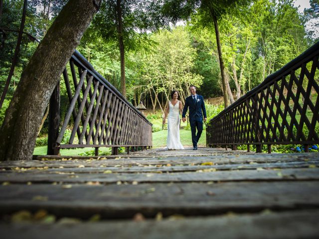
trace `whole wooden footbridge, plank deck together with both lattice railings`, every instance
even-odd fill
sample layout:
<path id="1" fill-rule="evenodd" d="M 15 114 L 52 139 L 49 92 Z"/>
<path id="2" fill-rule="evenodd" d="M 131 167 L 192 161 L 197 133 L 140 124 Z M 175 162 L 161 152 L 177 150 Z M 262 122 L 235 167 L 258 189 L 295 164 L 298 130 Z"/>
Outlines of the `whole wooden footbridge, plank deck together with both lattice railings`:
<path id="1" fill-rule="evenodd" d="M 61 128 L 59 85 L 50 101 L 48 155 L 0 162 L 1 238 L 317 238 L 319 153 L 307 151 L 319 143 L 318 58 L 319 43 L 212 119 L 208 147 L 165 151 L 150 149 L 152 124 L 75 52 Z M 306 152 L 271 153 L 276 144 Z M 57 155 L 71 147 L 113 155 Z"/>

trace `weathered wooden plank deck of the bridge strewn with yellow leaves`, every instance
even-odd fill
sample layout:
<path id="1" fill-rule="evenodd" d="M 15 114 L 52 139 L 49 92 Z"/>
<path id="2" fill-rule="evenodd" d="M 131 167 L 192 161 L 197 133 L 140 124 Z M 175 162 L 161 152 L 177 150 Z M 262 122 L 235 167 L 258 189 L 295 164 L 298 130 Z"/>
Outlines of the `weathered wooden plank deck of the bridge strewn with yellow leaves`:
<path id="1" fill-rule="evenodd" d="M 1 238 L 319 235 L 319 153 L 35 158 L 0 162 Z"/>

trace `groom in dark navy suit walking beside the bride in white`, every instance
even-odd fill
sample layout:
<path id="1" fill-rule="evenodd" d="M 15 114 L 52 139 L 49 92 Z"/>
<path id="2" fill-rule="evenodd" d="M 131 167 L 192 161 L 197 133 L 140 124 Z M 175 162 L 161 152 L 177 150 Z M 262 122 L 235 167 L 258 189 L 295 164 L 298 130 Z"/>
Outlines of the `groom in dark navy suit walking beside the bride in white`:
<path id="1" fill-rule="evenodd" d="M 191 129 L 191 140 L 193 141 L 193 150 L 197 150 L 197 142 L 203 131 L 203 115 L 204 122 L 206 122 L 206 108 L 204 104 L 204 98 L 196 94 L 196 87 L 189 87 L 190 95 L 185 100 L 185 106 L 183 109 L 182 120 L 186 121 L 185 115 L 187 108 L 189 108 L 189 123 Z M 196 135 L 197 128 L 197 135 Z"/>

